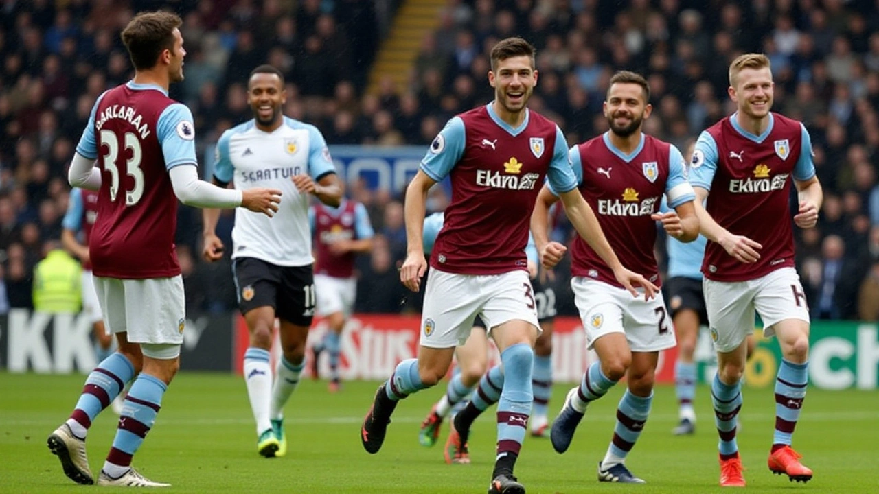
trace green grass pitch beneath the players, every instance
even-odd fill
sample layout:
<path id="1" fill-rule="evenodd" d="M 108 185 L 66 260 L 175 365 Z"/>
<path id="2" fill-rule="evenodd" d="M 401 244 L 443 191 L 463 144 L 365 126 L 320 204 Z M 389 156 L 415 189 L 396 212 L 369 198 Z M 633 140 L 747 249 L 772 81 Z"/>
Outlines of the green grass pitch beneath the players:
<path id="1" fill-rule="evenodd" d="M 71 410 L 83 375 L 0 373 L 0 492 L 88 492 L 71 483 L 46 438 Z M 494 460 L 495 415 L 477 420 L 471 440 L 473 463 L 446 465 L 444 425 L 433 448 L 418 445 L 418 425 L 445 383 L 411 396 L 397 407 L 379 454 L 360 446 L 360 420 L 377 383 L 347 382 L 330 395 L 325 382 L 303 381 L 287 404 L 289 452 L 264 459 L 256 452 L 256 432 L 241 377 L 181 373 L 164 396 L 156 426 L 134 466 L 144 476 L 173 484 L 167 492 L 284 493 L 483 493 Z M 555 415 L 569 386 L 556 385 L 550 412 Z M 528 438 L 516 474 L 529 494 L 582 492 L 717 492 L 717 435 L 708 388 L 697 390 L 699 413 L 694 436 L 673 437 L 677 419 L 674 390 L 656 390 L 650 420 L 629 455 L 628 466 L 646 485 L 599 483 L 596 464 L 604 456 L 614 427 L 622 387 L 594 403 L 566 454 L 548 440 Z M 89 433 L 89 458 L 98 472 L 115 432 L 106 410 Z M 747 490 L 752 492 L 879 492 L 879 393 L 810 389 L 795 447 L 815 471 L 808 484 L 790 483 L 766 469 L 774 426 L 773 390 L 745 389 L 739 447 Z"/>

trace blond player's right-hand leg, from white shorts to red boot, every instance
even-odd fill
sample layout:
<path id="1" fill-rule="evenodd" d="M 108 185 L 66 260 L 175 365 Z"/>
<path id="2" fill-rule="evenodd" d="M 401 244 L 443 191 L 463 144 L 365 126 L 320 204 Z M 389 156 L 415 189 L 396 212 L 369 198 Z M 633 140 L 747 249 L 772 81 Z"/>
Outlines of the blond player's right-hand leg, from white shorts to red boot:
<path id="1" fill-rule="evenodd" d="M 800 462 L 801 456 L 791 444 L 809 381 L 809 312 L 793 268 L 772 272 L 761 281 L 754 303 L 766 324 L 764 334 L 774 335 L 781 346 L 781 365 L 775 380 L 775 431 L 768 465 L 775 474 L 808 482 L 812 471 Z"/>

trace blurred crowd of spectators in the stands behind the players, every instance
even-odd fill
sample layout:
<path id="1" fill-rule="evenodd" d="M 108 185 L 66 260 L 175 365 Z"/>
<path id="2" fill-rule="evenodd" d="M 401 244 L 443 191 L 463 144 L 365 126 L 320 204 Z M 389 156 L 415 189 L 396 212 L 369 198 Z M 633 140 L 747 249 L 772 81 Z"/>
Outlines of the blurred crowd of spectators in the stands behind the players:
<path id="1" fill-rule="evenodd" d="M 455 113 L 489 102 L 490 47 L 519 35 L 538 50 L 530 107 L 569 144 L 607 130 L 601 103 L 615 70 L 647 76 L 644 131 L 686 149 L 731 113 L 729 62 L 769 55 L 774 110 L 803 120 L 825 204 L 816 229 L 795 229 L 812 315 L 879 319 L 879 0 L 447 0 L 425 32 L 406 84 L 368 74 L 404 0 L 0 1 L 0 313 L 31 307 L 33 266 L 61 236 L 66 171 L 98 95 L 132 71 L 119 33 L 137 12 L 184 18 L 185 81 L 171 97 L 196 116 L 203 174 L 225 129 L 251 118 L 246 79 L 268 62 L 287 77 L 285 113 L 327 142 L 424 145 Z M 359 261 L 357 310 L 418 310 L 399 284 L 401 191 L 349 184 L 378 234 Z M 559 240 L 570 237 L 563 214 Z M 218 232 L 229 244 L 232 215 Z M 228 262 L 200 260 L 200 212 L 181 207 L 178 255 L 187 305 L 234 309 Z M 227 251 L 231 251 L 228 249 Z M 657 255 L 665 258 L 664 247 Z M 663 261 L 664 262 L 664 261 Z M 556 270 L 559 311 L 575 314 Z"/>

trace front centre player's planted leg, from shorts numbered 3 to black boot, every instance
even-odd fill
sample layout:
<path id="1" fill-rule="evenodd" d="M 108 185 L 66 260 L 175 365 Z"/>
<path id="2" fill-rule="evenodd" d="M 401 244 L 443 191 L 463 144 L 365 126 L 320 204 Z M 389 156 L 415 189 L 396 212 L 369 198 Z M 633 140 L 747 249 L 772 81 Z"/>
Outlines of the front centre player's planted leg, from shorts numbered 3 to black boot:
<path id="1" fill-rule="evenodd" d="M 506 272 L 493 277 L 490 284 L 481 316 L 498 346 L 504 385 L 498 400 L 498 446 L 489 492 L 524 492 L 513 470 L 534 405 L 534 341 L 540 334 L 537 304 L 527 272 Z"/>

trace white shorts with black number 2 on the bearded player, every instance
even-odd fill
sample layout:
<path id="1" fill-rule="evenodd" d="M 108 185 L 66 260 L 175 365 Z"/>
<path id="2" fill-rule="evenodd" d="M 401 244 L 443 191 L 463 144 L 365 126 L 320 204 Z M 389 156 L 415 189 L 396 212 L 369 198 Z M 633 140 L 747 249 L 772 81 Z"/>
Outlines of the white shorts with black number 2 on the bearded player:
<path id="1" fill-rule="evenodd" d="M 574 303 L 586 332 L 586 347 L 609 333 L 623 333 L 632 352 L 658 352 L 677 345 L 672 317 L 661 293 L 649 301 L 603 281 L 576 276 L 570 280 Z"/>

